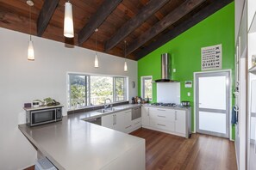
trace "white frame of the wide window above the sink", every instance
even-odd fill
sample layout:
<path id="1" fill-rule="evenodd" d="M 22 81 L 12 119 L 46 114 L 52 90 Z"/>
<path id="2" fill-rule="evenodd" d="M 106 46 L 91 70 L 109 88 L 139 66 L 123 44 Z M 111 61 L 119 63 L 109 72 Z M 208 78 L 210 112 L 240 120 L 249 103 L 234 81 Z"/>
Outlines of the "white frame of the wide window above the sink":
<path id="1" fill-rule="evenodd" d="M 72 76 L 85 76 L 85 84 L 88 83 L 88 87 L 85 87 L 85 104 L 86 106 L 82 107 L 75 107 L 72 108 L 71 106 L 71 84 L 70 84 L 70 75 Z M 83 108 L 89 108 L 89 107 L 95 107 L 95 106 L 103 106 L 103 105 L 91 105 L 91 76 L 109 76 L 113 79 L 113 100 L 112 104 L 114 103 L 122 103 L 125 101 L 128 101 L 128 76 L 113 76 L 113 75 L 101 75 L 101 74 L 91 74 L 91 73 L 81 73 L 81 72 L 66 72 L 66 100 L 67 100 L 67 110 L 72 111 L 72 110 L 78 110 L 78 109 L 83 109 Z M 124 79 L 124 96 L 123 100 L 116 101 L 116 78 L 123 78 Z"/>

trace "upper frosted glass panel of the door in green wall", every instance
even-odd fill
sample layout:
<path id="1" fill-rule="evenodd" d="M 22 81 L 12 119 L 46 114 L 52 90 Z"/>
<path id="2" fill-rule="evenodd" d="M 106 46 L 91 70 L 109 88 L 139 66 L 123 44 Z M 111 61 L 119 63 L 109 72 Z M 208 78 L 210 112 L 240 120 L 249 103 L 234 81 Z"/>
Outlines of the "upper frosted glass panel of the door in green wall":
<path id="1" fill-rule="evenodd" d="M 199 77 L 199 107 L 226 109 L 226 76 Z"/>

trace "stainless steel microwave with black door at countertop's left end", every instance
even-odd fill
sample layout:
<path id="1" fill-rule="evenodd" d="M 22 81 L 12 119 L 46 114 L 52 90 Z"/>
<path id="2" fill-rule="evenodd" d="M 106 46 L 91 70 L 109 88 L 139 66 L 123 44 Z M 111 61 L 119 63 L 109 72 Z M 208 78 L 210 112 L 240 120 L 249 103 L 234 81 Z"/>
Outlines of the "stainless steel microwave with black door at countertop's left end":
<path id="1" fill-rule="evenodd" d="M 48 124 L 62 120 L 62 106 L 27 110 L 28 126 Z"/>

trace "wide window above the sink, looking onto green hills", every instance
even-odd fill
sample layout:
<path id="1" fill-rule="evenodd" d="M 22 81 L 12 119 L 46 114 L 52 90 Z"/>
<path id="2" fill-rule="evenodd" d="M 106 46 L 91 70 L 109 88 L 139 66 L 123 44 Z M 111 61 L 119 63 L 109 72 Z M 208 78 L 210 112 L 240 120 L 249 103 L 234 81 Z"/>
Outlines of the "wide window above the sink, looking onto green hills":
<path id="1" fill-rule="evenodd" d="M 68 74 L 68 108 L 103 105 L 127 100 L 127 77 Z"/>

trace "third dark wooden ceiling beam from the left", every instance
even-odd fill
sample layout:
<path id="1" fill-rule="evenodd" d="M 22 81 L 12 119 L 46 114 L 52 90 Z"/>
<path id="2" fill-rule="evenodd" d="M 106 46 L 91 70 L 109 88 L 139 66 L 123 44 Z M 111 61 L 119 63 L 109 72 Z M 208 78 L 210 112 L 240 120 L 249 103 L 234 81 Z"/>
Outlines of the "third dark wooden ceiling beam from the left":
<path id="1" fill-rule="evenodd" d="M 120 41 L 125 39 L 128 34 L 132 33 L 137 27 L 147 20 L 151 15 L 158 11 L 161 7 L 170 0 L 150 1 L 147 5 L 140 9 L 140 12 L 135 17 L 131 18 L 116 32 L 116 34 L 109 39 L 105 44 L 105 51 L 108 52 L 114 48 Z"/>

